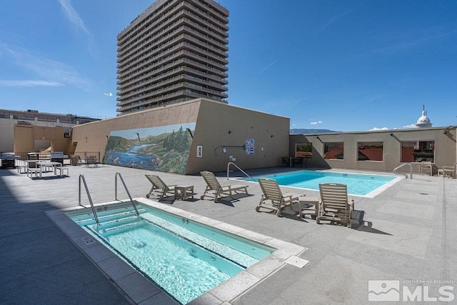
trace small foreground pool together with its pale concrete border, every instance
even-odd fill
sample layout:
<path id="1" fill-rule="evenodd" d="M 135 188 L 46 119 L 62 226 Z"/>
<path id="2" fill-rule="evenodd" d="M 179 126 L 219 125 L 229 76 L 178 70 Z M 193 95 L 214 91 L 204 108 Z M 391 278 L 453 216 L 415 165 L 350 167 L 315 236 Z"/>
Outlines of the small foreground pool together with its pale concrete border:
<path id="1" fill-rule="evenodd" d="M 125 277 L 116 279 L 119 276 L 118 270 L 122 268 L 119 268 L 119 263 L 107 264 L 107 261 L 113 259 L 113 254 L 104 254 L 105 257 L 101 258 L 98 244 L 104 244 L 111 249 L 117 254 L 114 258 L 120 259 L 123 264 L 129 264 L 134 268 L 132 272 L 139 272 L 146 281 L 156 287 L 159 286 L 159 289 L 167 291 L 169 295 L 172 293 L 167 289 L 169 286 L 175 286 L 177 293 L 173 293 L 173 298 L 181 304 L 191 301 L 209 289 L 211 290 L 201 297 L 205 298 L 211 294 L 211 297 L 215 296 L 222 300 L 222 304 L 223 301 L 231 301 L 243 291 L 251 289 L 258 281 L 280 269 L 283 264 L 291 264 L 288 259 L 305 261 L 303 266 L 307 264 L 306 260 L 296 257 L 306 250 L 302 246 L 149 199 L 135 200 L 139 204 L 141 219 L 148 225 L 157 222 L 156 228 L 145 229 L 144 224 L 139 223 L 138 217 L 132 211 L 131 204 L 120 204 L 119 201 L 96 206 L 100 221 L 98 228 L 94 216 L 89 212 L 90 209 L 69 209 L 65 212 L 65 217 L 59 216 L 61 211 L 53 211 L 51 215 L 56 214 L 54 222 L 63 231 L 70 230 L 70 233 L 67 233 L 69 237 L 71 236 L 75 244 L 78 244 L 88 256 L 94 256 L 94 263 L 98 264 L 112 281 L 121 286 L 123 291 L 131 290 L 134 294 L 132 299 L 137 303 L 148 298 L 156 299 L 157 292 L 154 292 L 154 289 L 144 289 L 149 296 L 139 298 L 136 295 L 139 291 L 136 283 L 138 279 L 134 279 L 132 284 L 128 284 L 124 280 Z M 149 215 L 149 211 L 152 211 L 152 214 Z M 123 214 L 121 218 L 131 219 L 121 219 L 116 214 Z M 49 216 L 52 219 L 51 215 Z M 84 229 L 86 234 L 74 232 L 68 221 L 73 224 L 76 224 L 74 221 L 79 222 L 77 227 L 80 230 Z M 136 239 L 127 228 L 141 231 L 141 239 Z M 89 233 L 95 240 L 87 236 Z M 168 236 L 170 240 L 167 240 L 168 237 L 165 238 L 167 235 L 171 235 Z M 161 249 L 163 244 L 170 248 Z M 133 256 L 121 253 L 124 247 L 129 248 L 131 251 L 127 252 L 131 252 Z M 146 254 L 146 257 L 141 257 L 143 254 Z M 107 265 L 116 265 L 116 269 L 112 270 L 111 267 L 110 270 Z M 160 273 L 165 283 L 159 283 L 159 280 L 153 278 L 156 276 L 154 272 Z M 186 279 L 181 277 L 183 273 L 191 275 L 188 286 L 185 283 Z M 204 280 L 204 284 L 196 283 L 200 279 Z M 130 287 L 124 288 L 125 285 Z M 199 291 L 194 291 L 194 286 Z M 213 288 L 214 286 L 216 287 Z"/>

